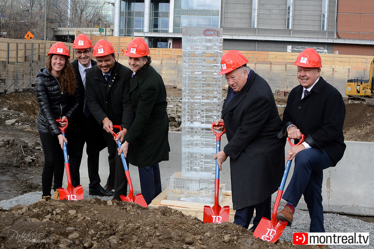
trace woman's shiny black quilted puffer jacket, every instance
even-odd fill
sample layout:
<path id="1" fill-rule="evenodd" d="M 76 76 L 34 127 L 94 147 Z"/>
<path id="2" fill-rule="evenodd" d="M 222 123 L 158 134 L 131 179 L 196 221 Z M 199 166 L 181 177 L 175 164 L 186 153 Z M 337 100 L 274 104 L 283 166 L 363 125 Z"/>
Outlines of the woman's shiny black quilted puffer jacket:
<path id="1" fill-rule="evenodd" d="M 74 95 L 61 92 L 60 84 L 47 68 L 39 70 L 35 80 L 35 94 L 39 103 L 38 131 L 61 134 L 56 119 L 65 116 L 68 121 L 82 112 L 83 96 L 79 91 Z"/>

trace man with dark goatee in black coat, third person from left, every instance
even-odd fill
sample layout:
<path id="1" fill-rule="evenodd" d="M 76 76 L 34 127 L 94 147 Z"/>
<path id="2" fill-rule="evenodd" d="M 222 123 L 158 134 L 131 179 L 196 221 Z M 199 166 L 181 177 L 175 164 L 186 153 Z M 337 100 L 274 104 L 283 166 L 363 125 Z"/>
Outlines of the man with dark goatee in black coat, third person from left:
<path id="1" fill-rule="evenodd" d="M 121 200 L 121 195 L 127 195 L 127 180 L 112 134 L 113 125 L 120 125 L 123 130 L 119 132 L 119 137 L 123 138 L 134 120 L 129 94 L 131 71 L 116 61 L 113 46 L 106 40 L 96 43 L 92 55 L 96 57 L 97 65 L 86 74 L 87 104 L 104 129 L 108 161 L 115 162 L 115 169 L 110 169 L 115 173 L 113 200 Z"/>

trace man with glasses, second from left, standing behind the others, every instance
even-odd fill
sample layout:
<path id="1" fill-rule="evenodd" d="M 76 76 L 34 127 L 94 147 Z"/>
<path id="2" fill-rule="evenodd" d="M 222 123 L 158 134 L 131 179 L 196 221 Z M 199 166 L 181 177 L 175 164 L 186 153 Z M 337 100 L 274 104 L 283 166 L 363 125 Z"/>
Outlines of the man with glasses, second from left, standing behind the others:
<path id="1" fill-rule="evenodd" d="M 85 35 L 80 34 L 74 40 L 73 49 L 77 59 L 71 65 L 74 68 L 77 84 L 82 96 L 86 96 L 86 71 L 96 62 L 91 59 L 92 41 Z M 80 185 L 79 168 L 82 161 L 83 148 L 86 143 L 87 168 L 89 178 L 89 194 L 99 196 L 113 196 L 113 191 L 105 190 L 101 185 L 99 175 L 99 153 L 107 147 L 107 143 L 102 136 L 102 129 L 96 119 L 91 115 L 86 104 L 86 97 L 83 102 L 83 112 L 77 115 L 77 118 L 69 123 L 69 163 L 71 172 L 71 183 L 74 187 Z M 92 136 L 94 134 L 94 136 Z M 114 181 L 112 183 L 114 185 Z"/>

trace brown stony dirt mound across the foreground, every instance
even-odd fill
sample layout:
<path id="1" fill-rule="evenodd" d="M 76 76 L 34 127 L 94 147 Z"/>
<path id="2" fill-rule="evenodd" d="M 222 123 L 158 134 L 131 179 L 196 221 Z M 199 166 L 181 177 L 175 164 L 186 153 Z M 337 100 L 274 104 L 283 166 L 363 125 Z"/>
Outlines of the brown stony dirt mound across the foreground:
<path id="1" fill-rule="evenodd" d="M 40 201 L 0 214 L 1 248 L 315 248 L 283 241 L 271 244 L 254 239 L 239 225 L 203 224 L 165 206 L 148 209 L 97 198 Z"/>

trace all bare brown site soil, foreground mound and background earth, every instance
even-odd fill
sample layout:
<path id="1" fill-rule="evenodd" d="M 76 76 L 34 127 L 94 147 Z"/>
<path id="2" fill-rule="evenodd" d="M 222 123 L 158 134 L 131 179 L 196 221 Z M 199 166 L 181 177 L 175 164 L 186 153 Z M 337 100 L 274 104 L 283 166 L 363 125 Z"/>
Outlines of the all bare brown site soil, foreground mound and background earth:
<path id="1" fill-rule="evenodd" d="M 180 89 L 167 91 L 168 96 L 181 96 Z M 286 100 L 276 97 L 281 116 Z M 38 111 L 33 92 L 0 94 L 0 200 L 42 190 L 44 156 Z M 346 104 L 346 140 L 373 142 L 373 124 L 373 107 Z M 203 224 L 166 207 L 148 209 L 97 198 L 39 201 L 9 210 L 0 207 L 0 215 L 0 248 L 316 248 L 267 243 L 238 225 Z M 356 218 L 373 222 L 368 217 Z"/>

